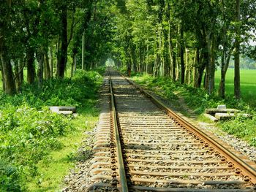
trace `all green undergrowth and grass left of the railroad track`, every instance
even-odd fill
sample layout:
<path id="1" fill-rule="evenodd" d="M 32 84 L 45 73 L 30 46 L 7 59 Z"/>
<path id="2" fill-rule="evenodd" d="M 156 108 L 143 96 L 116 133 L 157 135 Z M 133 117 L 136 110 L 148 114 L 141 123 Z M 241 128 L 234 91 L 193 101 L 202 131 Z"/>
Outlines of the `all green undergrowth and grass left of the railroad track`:
<path id="1" fill-rule="evenodd" d="M 0 99 L 0 191 L 56 191 L 75 163 L 83 132 L 94 127 L 98 72 L 23 85 Z M 78 117 L 50 112 L 48 106 L 76 106 Z"/>

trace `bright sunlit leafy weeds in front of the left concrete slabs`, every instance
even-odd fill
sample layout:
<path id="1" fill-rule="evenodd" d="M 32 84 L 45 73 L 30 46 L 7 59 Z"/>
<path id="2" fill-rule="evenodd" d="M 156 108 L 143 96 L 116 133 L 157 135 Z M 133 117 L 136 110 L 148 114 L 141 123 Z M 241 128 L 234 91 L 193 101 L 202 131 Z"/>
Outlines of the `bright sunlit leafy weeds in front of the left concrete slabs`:
<path id="1" fill-rule="evenodd" d="M 1 107 L 0 117 L 0 159 L 10 163 L 8 166 L 16 169 L 15 173 L 34 177 L 37 162 L 51 150 L 61 147 L 57 138 L 68 128 L 67 118 L 46 108 L 38 111 L 27 106 L 5 105 Z M 6 178 L 1 182 L 15 186 L 17 175 L 1 172 L 1 177 Z"/>

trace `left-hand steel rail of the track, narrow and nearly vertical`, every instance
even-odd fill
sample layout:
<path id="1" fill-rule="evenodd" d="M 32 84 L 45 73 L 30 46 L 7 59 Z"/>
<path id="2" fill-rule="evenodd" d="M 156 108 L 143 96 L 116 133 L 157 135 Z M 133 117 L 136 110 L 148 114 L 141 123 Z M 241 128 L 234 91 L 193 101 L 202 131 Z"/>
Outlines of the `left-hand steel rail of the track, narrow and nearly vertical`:
<path id="1" fill-rule="evenodd" d="M 126 173 L 125 173 L 125 169 L 124 169 L 123 153 L 121 150 L 121 139 L 120 139 L 120 134 L 118 131 L 115 98 L 114 98 L 114 94 L 113 94 L 113 84 L 112 84 L 110 75 L 108 77 L 109 77 L 109 83 L 110 83 L 111 107 L 112 107 L 112 113 L 113 113 L 113 126 L 115 129 L 118 172 L 119 172 L 119 178 L 120 178 L 120 183 L 118 185 L 118 188 L 119 188 L 119 191 L 121 191 L 121 192 L 128 192 L 127 177 L 126 177 Z"/>

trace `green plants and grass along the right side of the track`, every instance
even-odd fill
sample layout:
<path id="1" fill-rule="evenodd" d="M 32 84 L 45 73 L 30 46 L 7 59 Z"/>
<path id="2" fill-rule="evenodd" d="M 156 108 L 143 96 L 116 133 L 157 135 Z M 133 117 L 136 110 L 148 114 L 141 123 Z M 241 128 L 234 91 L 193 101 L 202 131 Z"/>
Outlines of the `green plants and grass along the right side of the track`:
<path id="1" fill-rule="evenodd" d="M 209 96 L 203 89 L 174 83 L 167 78 L 154 78 L 148 74 L 132 74 L 132 80 L 151 91 L 161 93 L 176 106 L 178 106 L 178 97 L 183 98 L 187 106 L 192 109 L 198 117 L 203 114 L 206 108 L 215 108 L 218 104 L 226 104 L 227 107 L 236 108 L 241 110 L 241 112 L 251 114 L 252 119 L 238 116 L 238 118 L 233 120 L 219 122 L 217 126 L 228 134 L 233 134 L 238 138 L 246 140 L 250 145 L 256 146 L 256 103 L 252 103 L 251 100 L 246 100 L 246 98 L 248 98 L 246 93 L 249 92 L 244 92 L 244 100 L 236 100 L 231 94 L 228 95 L 226 99 L 221 99 L 217 94 Z M 243 90 L 243 88 L 244 84 L 242 80 L 241 90 Z"/>

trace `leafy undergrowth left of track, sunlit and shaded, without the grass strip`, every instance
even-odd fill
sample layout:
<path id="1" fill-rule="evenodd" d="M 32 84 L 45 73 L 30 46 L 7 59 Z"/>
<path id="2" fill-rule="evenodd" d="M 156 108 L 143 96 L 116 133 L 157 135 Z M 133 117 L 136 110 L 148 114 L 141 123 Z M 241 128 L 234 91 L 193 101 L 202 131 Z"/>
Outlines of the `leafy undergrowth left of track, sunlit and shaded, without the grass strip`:
<path id="1" fill-rule="evenodd" d="M 71 116 L 48 106 L 76 106 L 83 113 L 94 107 L 100 81 L 99 73 L 78 70 L 72 80 L 46 80 L 42 90 L 23 85 L 15 96 L 1 95 L 0 191 L 26 191 L 27 181 L 39 174 L 37 163 L 61 150 L 60 139 L 75 131 Z"/>

